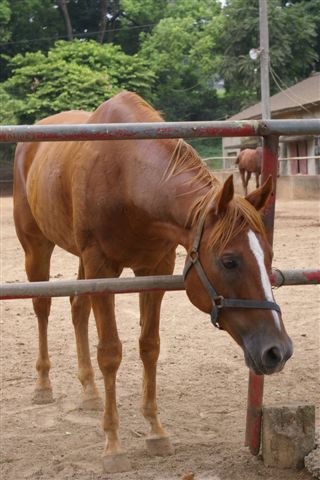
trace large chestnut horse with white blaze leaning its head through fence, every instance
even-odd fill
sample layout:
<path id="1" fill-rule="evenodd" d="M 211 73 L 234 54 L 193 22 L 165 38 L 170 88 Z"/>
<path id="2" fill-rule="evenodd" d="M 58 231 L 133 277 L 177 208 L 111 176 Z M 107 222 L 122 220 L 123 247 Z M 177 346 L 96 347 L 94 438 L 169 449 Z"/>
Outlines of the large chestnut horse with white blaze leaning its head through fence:
<path id="1" fill-rule="evenodd" d="M 159 122 L 140 97 L 123 92 L 94 113 L 65 112 L 41 124 Z M 257 374 L 281 370 L 291 340 L 273 301 L 268 273 L 271 248 L 260 211 L 269 179 L 246 199 L 234 195 L 232 177 L 220 185 L 182 140 L 22 143 L 14 167 L 14 218 L 30 281 L 49 279 L 59 245 L 80 259 L 79 278 L 172 274 L 178 244 L 188 252 L 185 284 L 191 302 L 211 313 L 244 351 Z M 229 298 L 235 297 L 235 298 Z M 156 403 L 156 365 L 163 293 L 141 293 L 140 356 L 144 366 L 142 412 L 150 422 L 147 446 L 167 454 L 171 445 Z M 34 401 L 52 401 L 47 324 L 50 299 L 33 299 L 39 327 Z M 93 308 L 99 336 L 98 363 L 105 383 L 103 428 L 106 471 L 129 463 L 118 437 L 116 374 L 122 357 L 114 296 L 71 298 L 83 406 L 99 405 L 88 344 Z"/>

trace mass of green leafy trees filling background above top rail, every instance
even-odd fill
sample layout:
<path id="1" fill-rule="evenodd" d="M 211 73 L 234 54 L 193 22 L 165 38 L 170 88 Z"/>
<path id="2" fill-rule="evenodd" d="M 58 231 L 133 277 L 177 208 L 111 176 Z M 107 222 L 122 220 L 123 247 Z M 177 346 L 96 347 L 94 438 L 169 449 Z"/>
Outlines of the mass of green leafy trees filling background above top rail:
<path id="1" fill-rule="evenodd" d="M 259 46 L 258 1 L 68 0 L 71 37 L 82 37 L 72 42 L 57 41 L 62 3 L 24 0 L 21 14 L 21 0 L 0 0 L 0 95 L 13 121 L 93 109 L 122 88 L 168 120 L 223 119 L 260 98 L 248 56 Z M 286 88 L 319 67 L 320 0 L 268 0 L 268 11 L 272 73 Z M 103 23 L 104 43 L 88 40 Z"/>

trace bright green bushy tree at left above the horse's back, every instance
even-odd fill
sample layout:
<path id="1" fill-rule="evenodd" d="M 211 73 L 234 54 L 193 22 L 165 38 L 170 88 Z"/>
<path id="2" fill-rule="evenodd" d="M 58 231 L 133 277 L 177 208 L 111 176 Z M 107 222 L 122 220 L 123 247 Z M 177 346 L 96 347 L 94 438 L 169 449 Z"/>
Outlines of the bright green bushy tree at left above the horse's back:
<path id="1" fill-rule="evenodd" d="M 10 67 L 12 75 L 1 87 L 16 101 L 13 114 L 19 123 L 33 123 L 63 110 L 94 110 L 120 89 L 143 94 L 153 82 L 142 60 L 93 40 L 59 41 L 47 55 L 19 54 Z M 0 121 L 6 122 L 2 113 Z"/>

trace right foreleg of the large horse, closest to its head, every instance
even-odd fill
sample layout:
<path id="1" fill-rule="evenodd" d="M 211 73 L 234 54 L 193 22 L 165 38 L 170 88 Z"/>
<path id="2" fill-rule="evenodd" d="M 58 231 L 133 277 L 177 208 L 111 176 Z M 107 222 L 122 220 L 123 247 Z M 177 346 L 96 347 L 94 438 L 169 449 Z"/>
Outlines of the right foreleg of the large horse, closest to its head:
<path id="1" fill-rule="evenodd" d="M 139 275 L 169 275 L 173 272 L 175 252 L 171 252 L 152 271 L 135 272 Z M 147 448 L 151 454 L 168 455 L 172 453 L 169 437 L 158 417 L 156 401 L 157 361 L 160 353 L 160 308 L 162 292 L 140 294 L 141 335 L 139 339 L 140 357 L 144 366 L 142 413 L 150 423 L 150 437 Z"/>

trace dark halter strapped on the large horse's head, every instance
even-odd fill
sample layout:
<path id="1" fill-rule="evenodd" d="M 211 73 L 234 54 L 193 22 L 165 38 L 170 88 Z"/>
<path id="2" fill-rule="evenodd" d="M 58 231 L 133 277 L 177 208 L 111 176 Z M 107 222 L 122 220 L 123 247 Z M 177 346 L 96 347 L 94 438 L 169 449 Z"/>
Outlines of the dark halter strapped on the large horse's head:
<path id="1" fill-rule="evenodd" d="M 242 300 L 238 298 L 224 298 L 222 295 L 218 295 L 215 291 L 213 285 L 208 280 L 208 277 L 204 273 L 202 265 L 199 260 L 199 245 L 203 233 L 205 218 L 203 218 L 198 226 L 195 239 L 193 241 L 192 249 L 189 253 L 188 261 L 183 270 L 183 279 L 185 281 L 189 270 L 192 266 L 195 267 L 199 278 L 207 290 L 210 298 L 212 300 L 212 310 L 211 310 L 211 322 L 212 324 L 220 328 L 218 322 L 219 310 L 222 308 L 252 308 L 252 309 L 262 309 L 262 310 L 275 310 L 278 313 L 281 313 L 279 305 L 275 302 L 269 302 L 267 300 Z"/>

